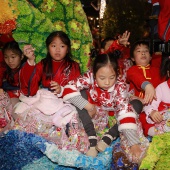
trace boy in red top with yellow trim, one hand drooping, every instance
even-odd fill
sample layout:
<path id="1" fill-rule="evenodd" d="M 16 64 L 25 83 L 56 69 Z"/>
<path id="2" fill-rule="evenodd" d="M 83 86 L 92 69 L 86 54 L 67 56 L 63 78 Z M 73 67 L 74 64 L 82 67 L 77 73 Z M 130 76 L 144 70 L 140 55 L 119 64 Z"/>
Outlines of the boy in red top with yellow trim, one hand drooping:
<path id="1" fill-rule="evenodd" d="M 138 109 L 140 113 L 143 104 L 148 104 L 154 98 L 156 99 L 155 87 L 163 80 L 160 77 L 159 68 L 150 65 L 151 55 L 147 42 L 135 42 L 131 47 L 130 54 L 135 65 L 127 71 L 127 82 L 130 84 L 129 90 L 134 92 L 134 95 L 131 96 L 131 103 L 141 103 L 137 105 L 139 108 L 135 109 Z M 144 132 L 146 132 L 145 114 L 140 114 L 140 121 Z"/>

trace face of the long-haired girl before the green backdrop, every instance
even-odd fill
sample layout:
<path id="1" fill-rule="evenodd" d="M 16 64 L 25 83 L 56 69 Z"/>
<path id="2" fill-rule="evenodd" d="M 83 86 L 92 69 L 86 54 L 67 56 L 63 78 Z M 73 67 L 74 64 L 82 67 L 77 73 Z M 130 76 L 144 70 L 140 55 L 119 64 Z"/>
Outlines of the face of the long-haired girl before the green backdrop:
<path id="1" fill-rule="evenodd" d="M 53 39 L 48 49 L 52 59 L 55 61 L 62 61 L 68 52 L 68 46 L 59 37 Z"/>

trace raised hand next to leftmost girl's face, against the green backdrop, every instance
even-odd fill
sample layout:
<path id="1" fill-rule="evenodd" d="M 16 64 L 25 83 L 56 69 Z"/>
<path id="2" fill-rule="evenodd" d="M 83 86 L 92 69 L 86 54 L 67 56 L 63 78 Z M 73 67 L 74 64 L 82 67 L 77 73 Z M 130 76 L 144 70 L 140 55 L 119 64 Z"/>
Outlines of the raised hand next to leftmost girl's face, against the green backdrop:
<path id="1" fill-rule="evenodd" d="M 25 45 L 23 52 L 24 55 L 28 58 L 29 62 L 34 64 L 35 55 L 34 55 L 35 49 L 32 47 L 32 45 Z"/>

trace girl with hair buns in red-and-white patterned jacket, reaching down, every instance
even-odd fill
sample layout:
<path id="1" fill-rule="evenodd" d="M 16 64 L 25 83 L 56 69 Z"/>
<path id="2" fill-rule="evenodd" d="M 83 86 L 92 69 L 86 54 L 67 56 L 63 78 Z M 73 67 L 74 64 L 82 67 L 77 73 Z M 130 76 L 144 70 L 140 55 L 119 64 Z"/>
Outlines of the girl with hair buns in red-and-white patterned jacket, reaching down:
<path id="1" fill-rule="evenodd" d="M 114 125 L 97 144 L 96 132 L 91 120 L 102 111 L 106 114 L 105 116 L 108 116 L 108 112 L 114 111 L 120 136 L 123 139 L 122 147 L 128 148 L 132 161 L 137 161 L 136 158 L 141 158 L 142 147 L 147 145 L 147 140 L 143 137 L 141 128 L 138 129 L 140 123 L 129 104 L 126 84 L 119 79 L 117 64 L 119 56 L 120 53 L 117 51 L 112 54 L 98 55 L 94 60 L 92 70 L 64 87 L 63 99 L 71 102 L 71 98 L 77 96 L 76 105 L 80 109 L 85 108 L 89 113 L 89 115 L 80 117 L 89 136 L 88 156 L 95 157 L 97 151 L 104 151 L 117 138 L 116 125 Z M 88 90 L 88 102 L 83 102 L 81 98 L 79 90 L 82 89 Z"/>

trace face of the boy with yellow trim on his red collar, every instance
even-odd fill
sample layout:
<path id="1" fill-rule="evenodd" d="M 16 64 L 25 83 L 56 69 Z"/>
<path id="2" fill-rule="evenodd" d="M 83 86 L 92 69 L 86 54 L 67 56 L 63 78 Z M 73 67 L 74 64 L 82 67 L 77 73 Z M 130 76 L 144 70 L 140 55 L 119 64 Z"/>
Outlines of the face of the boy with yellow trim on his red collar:
<path id="1" fill-rule="evenodd" d="M 132 60 L 136 65 L 147 66 L 151 60 L 148 46 L 142 44 L 135 48 L 133 56 L 134 58 L 132 58 Z"/>

